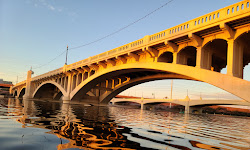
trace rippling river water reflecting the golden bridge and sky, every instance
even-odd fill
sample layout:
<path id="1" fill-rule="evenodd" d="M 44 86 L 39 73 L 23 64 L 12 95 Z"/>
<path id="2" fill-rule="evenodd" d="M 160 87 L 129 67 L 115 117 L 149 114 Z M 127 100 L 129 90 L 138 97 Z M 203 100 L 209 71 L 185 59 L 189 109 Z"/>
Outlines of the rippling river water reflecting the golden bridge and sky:
<path id="1" fill-rule="evenodd" d="M 1 150 L 250 149 L 250 118 L 0 99 Z"/>

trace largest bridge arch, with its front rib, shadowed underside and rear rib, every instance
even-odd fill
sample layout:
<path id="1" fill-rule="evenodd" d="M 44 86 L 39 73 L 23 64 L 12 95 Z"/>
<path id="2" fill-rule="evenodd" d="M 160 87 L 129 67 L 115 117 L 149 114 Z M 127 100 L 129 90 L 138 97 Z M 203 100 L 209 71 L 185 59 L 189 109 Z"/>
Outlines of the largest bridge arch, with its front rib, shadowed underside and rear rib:
<path id="1" fill-rule="evenodd" d="M 123 65 L 119 70 L 112 68 L 100 74 L 96 73 L 93 79 L 76 87 L 71 93 L 71 100 L 84 101 L 91 98 L 92 103 L 107 104 L 117 94 L 132 86 L 162 79 L 202 81 L 236 96 L 242 96 L 242 99 L 249 98 L 247 97 L 249 95 L 247 89 L 250 88 L 248 81 L 211 70 L 169 63 L 138 63 L 136 69 L 131 66 L 134 64 Z"/>

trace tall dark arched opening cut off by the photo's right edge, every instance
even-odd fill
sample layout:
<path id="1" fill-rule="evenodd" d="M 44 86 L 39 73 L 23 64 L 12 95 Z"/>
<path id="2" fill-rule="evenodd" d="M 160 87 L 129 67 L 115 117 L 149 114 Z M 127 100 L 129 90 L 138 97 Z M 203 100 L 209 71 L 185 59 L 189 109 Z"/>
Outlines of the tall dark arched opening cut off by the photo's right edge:
<path id="1" fill-rule="evenodd" d="M 238 77 L 250 81 L 250 32 L 241 34 L 234 42 L 236 48 L 235 74 Z"/>

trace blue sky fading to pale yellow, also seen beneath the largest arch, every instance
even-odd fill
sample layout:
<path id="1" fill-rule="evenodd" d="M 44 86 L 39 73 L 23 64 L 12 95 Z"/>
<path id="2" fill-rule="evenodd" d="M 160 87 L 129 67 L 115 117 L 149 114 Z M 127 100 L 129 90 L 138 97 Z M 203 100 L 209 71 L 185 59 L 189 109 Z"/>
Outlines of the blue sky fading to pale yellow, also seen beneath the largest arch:
<path id="1" fill-rule="evenodd" d="M 0 78 L 13 83 L 60 68 L 65 50 L 96 41 L 164 5 L 169 0 L 0 0 Z M 124 30 L 69 50 L 68 64 L 151 35 L 240 0 L 172 0 Z M 60 55 L 60 56 L 59 56 Z M 56 59 L 55 59 L 56 58 Z M 53 60 L 51 62 L 51 60 Z M 250 65 L 244 79 L 250 80 Z M 226 69 L 224 69 L 225 72 Z M 223 72 L 223 71 L 222 71 Z M 18 79 L 17 79 L 18 76 Z M 141 84 L 125 95 L 169 97 L 170 80 Z M 174 80 L 173 97 L 237 98 L 209 84 Z M 202 87 L 202 88 L 201 88 Z"/>

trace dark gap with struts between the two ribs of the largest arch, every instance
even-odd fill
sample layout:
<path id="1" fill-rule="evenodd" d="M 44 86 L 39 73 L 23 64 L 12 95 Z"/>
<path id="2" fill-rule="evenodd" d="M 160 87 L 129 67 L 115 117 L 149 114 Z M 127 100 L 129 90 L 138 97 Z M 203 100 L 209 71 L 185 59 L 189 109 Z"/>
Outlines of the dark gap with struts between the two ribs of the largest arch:
<path id="1" fill-rule="evenodd" d="M 157 74 L 159 74 L 159 76 L 164 76 L 165 74 L 169 73 L 149 69 L 122 69 L 108 72 L 87 82 L 84 86 L 80 85 L 77 87 L 76 92 L 72 94 L 71 99 L 76 101 L 83 101 L 85 99 L 91 98 L 96 99 L 101 95 L 110 92 L 112 89 L 122 85 L 123 83 L 129 82 L 132 79 Z M 90 95 L 89 93 L 92 94 Z"/>

